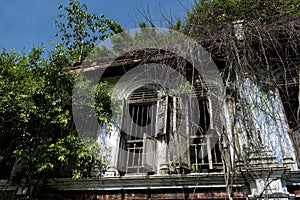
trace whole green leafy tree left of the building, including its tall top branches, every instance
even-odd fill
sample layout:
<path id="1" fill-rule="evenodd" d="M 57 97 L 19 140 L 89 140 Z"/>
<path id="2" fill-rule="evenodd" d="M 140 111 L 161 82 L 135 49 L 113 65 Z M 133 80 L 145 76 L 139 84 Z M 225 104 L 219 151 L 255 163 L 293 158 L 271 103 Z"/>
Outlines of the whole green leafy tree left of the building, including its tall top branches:
<path id="1" fill-rule="evenodd" d="M 75 74 L 70 70 L 74 63 L 82 62 L 95 42 L 122 28 L 103 15 L 89 14 L 87 6 L 75 0 L 59 9 L 66 12 L 55 22 L 62 43 L 48 55 L 42 47 L 33 47 L 28 54 L 0 52 L 1 177 L 7 173 L 3 169 L 11 169 L 15 162 L 26 163 L 24 176 L 36 180 L 59 176 L 67 165 L 73 178 L 80 178 L 88 160 L 105 164 L 103 158 L 93 155 L 101 148 L 96 140 L 87 145 L 76 133 L 72 116 Z M 111 53 L 103 47 L 98 51 Z M 100 83 L 95 91 L 96 105 L 93 99 L 94 104 L 87 106 L 95 107 L 99 121 L 107 121 L 111 90 Z"/>

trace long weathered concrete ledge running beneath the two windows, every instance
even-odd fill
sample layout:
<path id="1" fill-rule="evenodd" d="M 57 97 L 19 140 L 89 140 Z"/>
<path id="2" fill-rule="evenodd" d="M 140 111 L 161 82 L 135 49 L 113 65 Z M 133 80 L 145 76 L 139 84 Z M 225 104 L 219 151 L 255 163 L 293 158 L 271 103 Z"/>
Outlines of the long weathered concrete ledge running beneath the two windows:
<path id="1" fill-rule="evenodd" d="M 244 187 L 244 179 L 241 175 L 237 175 L 234 180 L 233 187 Z M 57 178 L 49 181 L 46 187 L 58 191 L 112 191 L 172 188 L 226 188 L 226 183 L 224 174 L 222 173 L 200 173 L 197 175 L 134 175 L 81 180 Z"/>

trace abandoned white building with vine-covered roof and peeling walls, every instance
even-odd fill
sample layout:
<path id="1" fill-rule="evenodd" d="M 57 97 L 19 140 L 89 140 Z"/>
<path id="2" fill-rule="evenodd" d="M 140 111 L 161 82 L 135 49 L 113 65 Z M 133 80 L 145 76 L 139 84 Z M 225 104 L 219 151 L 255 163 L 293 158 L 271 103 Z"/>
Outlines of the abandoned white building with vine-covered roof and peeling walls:
<path id="1" fill-rule="evenodd" d="M 105 126 L 94 127 L 108 169 L 101 174 L 93 166 L 88 178 L 50 180 L 44 199 L 300 198 L 300 127 L 292 120 L 299 105 L 296 70 L 273 90 L 247 78 L 236 83 L 242 101 L 203 74 L 210 72 L 160 49 L 76 70 L 88 76 L 101 71 L 115 90 L 117 123 L 109 134 Z M 6 190 L 22 195 L 28 188 Z"/>

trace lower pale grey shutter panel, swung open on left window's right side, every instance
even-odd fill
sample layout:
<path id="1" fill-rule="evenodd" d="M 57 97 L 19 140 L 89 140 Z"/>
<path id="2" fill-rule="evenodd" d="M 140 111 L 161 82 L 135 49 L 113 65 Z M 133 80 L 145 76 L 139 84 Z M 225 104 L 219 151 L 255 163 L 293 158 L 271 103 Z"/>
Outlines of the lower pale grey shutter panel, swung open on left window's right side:
<path id="1" fill-rule="evenodd" d="M 155 140 L 154 138 L 147 137 L 144 133 L 143 138 L 143 159 L 142 165 L 147 171 L 154 171 L 155 166 Z"/>

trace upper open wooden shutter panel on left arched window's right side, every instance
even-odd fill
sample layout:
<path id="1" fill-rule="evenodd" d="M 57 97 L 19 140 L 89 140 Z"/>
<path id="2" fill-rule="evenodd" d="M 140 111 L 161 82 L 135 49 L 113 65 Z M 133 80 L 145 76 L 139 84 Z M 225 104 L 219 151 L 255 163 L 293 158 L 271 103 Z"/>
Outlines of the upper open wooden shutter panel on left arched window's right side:
<path id="1" fill-rule="evenodd" d="M 157 101 L 155 137 L 161 137 L 166 134 L 167 114 L 168 114 L 167 108 L 168 108 L 168 98 L 167 97 Z"/>

